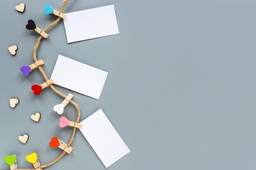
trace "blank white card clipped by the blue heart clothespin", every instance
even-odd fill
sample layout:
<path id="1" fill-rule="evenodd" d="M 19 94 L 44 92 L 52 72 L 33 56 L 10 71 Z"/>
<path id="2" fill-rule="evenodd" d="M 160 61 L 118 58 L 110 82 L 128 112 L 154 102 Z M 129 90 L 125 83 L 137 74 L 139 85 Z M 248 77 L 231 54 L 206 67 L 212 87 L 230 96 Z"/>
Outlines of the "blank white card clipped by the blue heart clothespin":
<path id="1" fill-rule="evenodd" d="M 65 13 L 67 42 L 119 34 L 114 5 Z"/>

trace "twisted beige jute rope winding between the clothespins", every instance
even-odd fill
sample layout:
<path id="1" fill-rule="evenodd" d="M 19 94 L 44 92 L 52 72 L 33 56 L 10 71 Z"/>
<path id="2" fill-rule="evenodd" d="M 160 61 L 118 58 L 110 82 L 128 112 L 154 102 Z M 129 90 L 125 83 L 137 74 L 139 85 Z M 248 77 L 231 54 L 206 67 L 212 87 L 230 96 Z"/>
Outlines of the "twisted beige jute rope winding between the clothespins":
<path id="1" fill-rule="evenodd" d="M 63 11 L 64 11 L 64 9 L 65 9 L 65 6 L 66 6 L 66 4 L 67 4 L 68 1 L 69 1 L 69 0 L 64 0 L 63 5 L 62 5 L 62 8 L 61 8 L 61 13 L 63 13 Z M 48 31 L 52 26 L 56 25 L 60 20 L 61 20 L 61 17 L 58 17 L 54 22 L 52 22 L 52 24 L 49 24 L 43 31 L 45 31 L 45 32 Z M 36 50 L 37 50 L 37 48 L 38 48 L 38 46 L 39 46 L 40 41 L 42 40 L 42 38 L 43 38 L 43 36 L 40 35 L 40 36 L 38 37 L 37 41 L 36 41 L 36 45 L 34 46 L 33 58 L 34 58 L 35 62 L 38 61 L 37 58 L 36 58 Z M 43 77 L 45 78 L 45 80 L 48 81 L 49 79 L 48 79 L 47 75 L 45 74 L 45 71 L 43 71 L 42 66 L 38 66 L 38 69 L 39 69 L 39 71 L 42 73 L 42 75 L 43 75 Z M 49 85 L 49 86 L 52 88 L 52 90 L 53 90 L 55 93 L 57 93 L 57 94 L 60 95 L 61 97 L 63 97 L 63 98 L 66 98 L 66 97 L 67 97 L 67 96 L 63 95 L 61 92 L 57 91 L 56 88 L 54 88 L 54 86 L 53 86 L 52 84 Z M 74 101 L 70 100 L 70 103 L 73 104 L 73 105 L 76 107 L 76 110 L 77 110 L 76 123 L 79 123 L 79 119 L 80 119 L 80 115 L 81 115 L 80 109 L 79 109 L 79 107 L 77 106 L 77 104 L 76 104 Z M 72 143 L 72 141 L 73 141 L 73 139 L 74 139 L 74 136 L 75 136 L 75 132 L 76 132 L 76 128 L 74 127 L 73 132 L 72 132 L 72 135 L 71 135 L 71 138 L 70 138 L 70 140 L 69 140 L 68 143 L 67 143 L 67 147 L 69 147 L 70 144 Z M 60 160 L 60 159 L 65 155 L 65 153 L 66 153 L 66 152 L 63 151 L 63 152 L 61 153 L 61 155 L 58 156 L 56 159 L 54 159 L 52 162 L 47 163 L 46 165 L 40 166 L 40 168 L 46 168 L 46 167 L 48 167 L 48 166 L 51 166 L 52 164 L 54 164 L 54 163 L 56 163 L 58 160 Z M 32 168 L 32 169 L 17 169 L 17 170 L 35 170 L 35 168 Z"/>

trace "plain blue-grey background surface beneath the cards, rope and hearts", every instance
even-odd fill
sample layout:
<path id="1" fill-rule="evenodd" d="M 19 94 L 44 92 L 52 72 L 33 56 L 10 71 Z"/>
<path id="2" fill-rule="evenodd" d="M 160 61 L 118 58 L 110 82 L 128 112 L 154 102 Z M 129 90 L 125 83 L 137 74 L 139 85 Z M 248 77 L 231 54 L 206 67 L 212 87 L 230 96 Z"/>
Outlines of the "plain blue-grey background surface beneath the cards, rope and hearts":
<path id="1" fill-rule="evenodd" d="M 32 168 L 61 153 L 53 136 L 67 141 L 72 128 L 59 128 L 52 110 L 63 99 L 50 88 L 35 96 L 30 87 L 44 79 L 39 71 L 22 76 L 33 63 L 38 35 L 25 29 L 32 19 L 44 29 L 55 20 L 45 3 L 60 9 L 63 0 L 1 1 L 0 169 L 16 154 L 18 168 Z M 102 108 L 131 152 L 109 170 L 256 169 L 256 1 L 254 0 L 70 0 L 65 12 L 115 4 L 120 34 L 67 44 L 63 21 L 42 40 L 38 59 L 48 77 L 59 54 L 108 71 L 99 100 L 72 92 L 81 120 Z M 18 46 L 16 56 L 7 48 Z M 56 87 L 64 94 L 68 89 Z M 9 99 L 17 97 L 16 108 Z M 30 115 L 42 114 L 38 123 Z M 76 118 L 72 105 L 64 116 Z M 29 134 L 27 144 L 18 141 Z M 47 170 L 104 170 L 79 130 L 70 155 Z"/>

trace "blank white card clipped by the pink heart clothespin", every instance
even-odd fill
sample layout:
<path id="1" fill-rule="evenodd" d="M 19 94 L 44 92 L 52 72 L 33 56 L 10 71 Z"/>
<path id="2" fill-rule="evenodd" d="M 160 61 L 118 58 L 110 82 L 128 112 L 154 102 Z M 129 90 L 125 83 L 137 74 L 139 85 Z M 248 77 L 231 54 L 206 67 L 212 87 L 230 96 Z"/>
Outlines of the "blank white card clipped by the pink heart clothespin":
<path id="1" fill-rule="evenodd" d="M 106 168 L 130 152 L 101 109 L 84 119 L 81 124 L 81 132 Z"/>

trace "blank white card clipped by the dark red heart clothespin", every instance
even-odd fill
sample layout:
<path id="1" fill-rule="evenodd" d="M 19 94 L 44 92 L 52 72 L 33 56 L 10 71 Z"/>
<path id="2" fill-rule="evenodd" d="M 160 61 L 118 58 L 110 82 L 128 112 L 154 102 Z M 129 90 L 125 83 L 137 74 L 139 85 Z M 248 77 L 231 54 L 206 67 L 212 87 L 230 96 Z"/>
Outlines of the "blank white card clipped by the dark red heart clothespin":
<path id="1" fill-rule="evenodd" d="M 58 55 L 52 72 L 54 84 L 99 99 L 108 72 Z"/>

